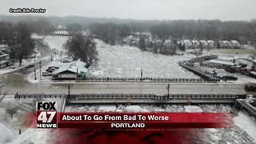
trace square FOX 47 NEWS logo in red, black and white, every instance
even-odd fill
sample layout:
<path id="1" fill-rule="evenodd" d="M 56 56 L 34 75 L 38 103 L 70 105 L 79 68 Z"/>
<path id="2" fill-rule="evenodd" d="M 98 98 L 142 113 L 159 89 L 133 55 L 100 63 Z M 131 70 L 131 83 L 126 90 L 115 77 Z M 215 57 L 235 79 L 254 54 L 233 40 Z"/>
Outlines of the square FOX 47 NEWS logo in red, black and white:
<path id="1" fill-rule="evenodd" d="M 37 102 L 37 128 L 57 128 L 57 102 Z"/>

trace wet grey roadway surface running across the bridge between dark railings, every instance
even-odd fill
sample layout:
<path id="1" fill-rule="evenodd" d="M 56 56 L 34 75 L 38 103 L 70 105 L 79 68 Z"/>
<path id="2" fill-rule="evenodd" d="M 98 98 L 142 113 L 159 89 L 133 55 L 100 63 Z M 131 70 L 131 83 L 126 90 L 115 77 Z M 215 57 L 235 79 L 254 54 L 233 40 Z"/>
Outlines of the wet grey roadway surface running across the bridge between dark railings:
<path id="1" fill-rule="evenodd" d="M 70 83 L 70 94 L 167 94 L 166 83 Z M 14 83 L 2 94 L 68 94 L 67 83 Z M 245 94 L 242 84 L 170 83 L 170 94 Z"/>

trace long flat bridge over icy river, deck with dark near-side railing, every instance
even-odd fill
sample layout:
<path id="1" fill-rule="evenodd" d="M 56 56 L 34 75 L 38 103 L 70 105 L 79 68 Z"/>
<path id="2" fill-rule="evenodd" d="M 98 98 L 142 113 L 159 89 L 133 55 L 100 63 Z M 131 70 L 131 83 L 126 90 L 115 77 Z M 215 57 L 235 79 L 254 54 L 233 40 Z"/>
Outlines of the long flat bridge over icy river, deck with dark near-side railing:
<path id="1" fill-rule="evenodd" d="M 67 98 L 68 103 L 198 103 L 235 102 L 245 97 L 242 84 L 224 83 L 70 83 L 34 84 L 8 91 L 15 98 Z"/>

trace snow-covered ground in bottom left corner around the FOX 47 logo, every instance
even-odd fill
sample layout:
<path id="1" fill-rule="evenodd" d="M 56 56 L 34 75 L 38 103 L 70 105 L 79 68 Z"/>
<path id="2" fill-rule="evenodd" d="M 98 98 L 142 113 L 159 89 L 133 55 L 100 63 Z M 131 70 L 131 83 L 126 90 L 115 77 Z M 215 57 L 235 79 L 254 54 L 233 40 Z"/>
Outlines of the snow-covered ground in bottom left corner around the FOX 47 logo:
<path id="1" fill-rule="evenodd" d="M 2 95 L 0 96 L 2 98 Z M 49 143 L 50 130 L 25 128 L 23 125 L 24 116 L 27 113 L 35 111 L 36 101 L 54 101 L 58 102 L 57 110 L 60 111 L 62 106 L 61 98 L 42 98 L 40 99 L 14 99 L 10 97 L 0 100 L 0 143 L 10 144 L 27 144 L 27 143 Z M 14 114 L 14 118 L 10 118 L 10 114 L 6 113 L 6 107 L 16 106 L 18 112 Z M 22 134 L 18 134 L 21 130 Z"/>

